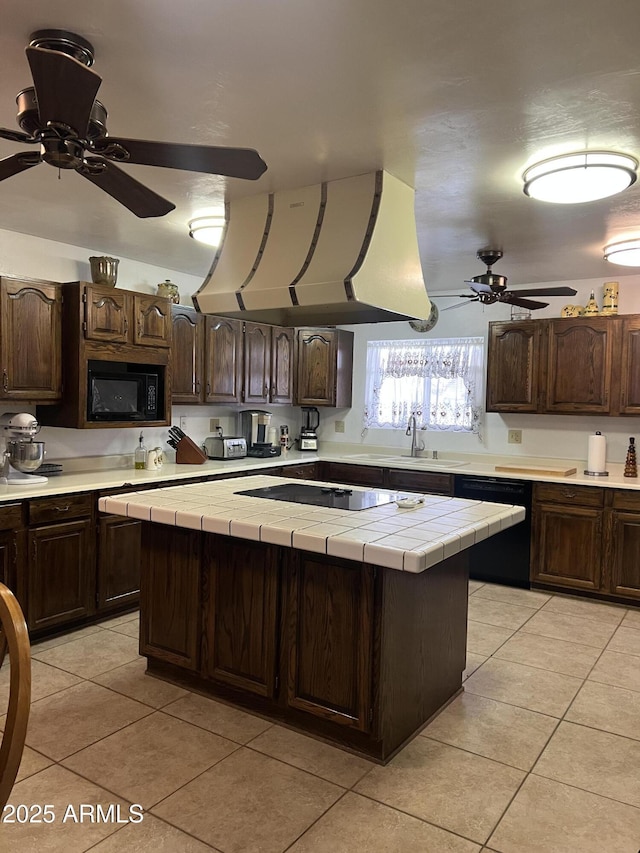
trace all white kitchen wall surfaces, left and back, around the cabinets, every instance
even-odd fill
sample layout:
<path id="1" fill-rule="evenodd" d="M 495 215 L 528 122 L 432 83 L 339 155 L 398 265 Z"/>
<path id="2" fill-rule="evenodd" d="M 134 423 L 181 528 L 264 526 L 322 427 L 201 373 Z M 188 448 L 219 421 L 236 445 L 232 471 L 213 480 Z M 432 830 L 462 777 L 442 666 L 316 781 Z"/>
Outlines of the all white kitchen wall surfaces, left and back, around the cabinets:
<path id="1" fill-rule="evenodd" d="M 65 243 L 41 240 L 24 234 L 0 230 L 0 275 L 43 278 L 52 281 L 90 281 L 89 256 L 108 254 L 104 248 L 87 250 Z M 620 282 L 619 310 L 621 314 L 640 313 L 640 275 L 619 275 L 612 267 L 610 279 Z M 181 294 L 183 304 L 191 304 L 190 296 L 201 284 L 199 278 L 179 271 L 141 264 L 128 258 L 121 258 L 118 270 L 118 287 L 138 290 L 143 293 L 155 293 L 156 286 L 164 279 L 175 282 Z M 566 284 L 567 282 L 545 282 L 544 286 Z M 595 291 L 599 304 L 602 303 L 602 279 L 586 279 L 570 282 L 578 291 L 576 296 L 553 297 L 548 308 L 535 312 L 536 317 L 560 316 L 560 309 L 566 303 L 584 305 L 590 291 Z M 477 303 L 465 304 L 462 308 L 443 311 L 457 300 L 433 294 L 440 309 L 437 326 L 428 333 L 429 337 L 446 338 L 461 336 L 483 336 L 486 339 L 487 326 L 492 320 L 509 319 L 510 309 L 500 304 L 481 306 Z M 462 300 L 460 300 L 462 301 Z M 466 302 L 466 300 L 465 300 Z M 408 323 L 378 323 L 361 326 L 346 326 L 355 333 L 353 405 L 351 409 L 321 410 L 320 440 L 358 444 L 367 446 L 386 445 L 406 447 L 408 439 L 404 430 L 369 430 L 362 436 L 362 411 L 364 406 L 364 374 L 366 348 L 369 340 L 409 340 L 423 338 L 414 332 Z M 579 366 L 576 366 L 579 369 Z M 19 406 L 20 410 L 25 407 Z M 186 418 L 185 431 L 196 442 L 201 442 L 209 430 L 209 419 L 218 417 L 225 433 L 236 432 L 237 411 L 241 407 L 220 406 L 175 406 L 173 423 L 179 424 L 180 418 Z M 273 424 L 289 425 L 292 435 L 296 435 L 301 425 L 299 408 L 286 406 L 270 407 L 273 412 Z M 26 407 L 28 411 L 35 411 Z M 0 407 L 0 413 L 16 411 L 16 406 Z M 345 423 L 345 432 L 335 432 L 335 421 Z M 507 444 L 507 430 L 521 429 L 522 444 Z M 572 417 L 569 415 L 495 415 L 486 416 L 484 442 L 476 436 L 460 433 L 430 432 L 423 437 L 427 447 L 440 451 L 508 454 L 513 456 L 541 456 L 558 459 L 586 458 L 587 436 L 594 430 L 601 430 L 608 439 L 607 458 L 609 461 L 624 462 L 629 435 L 638 430 L 635 418 L 597 418 Z M 40 438 L 47 443 L 49 459 L 65 459 L 77 456 L 102 456 L 109 454 L 133 453 L 137 444 L 139 429 L 97 429 L 71 430 L 43 427 Z M 148 447 L 164 446 L 166 449 L 166 427 L 145 429 L 145 443 Z"/>

